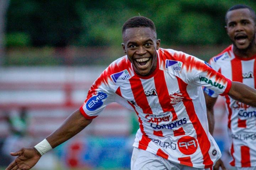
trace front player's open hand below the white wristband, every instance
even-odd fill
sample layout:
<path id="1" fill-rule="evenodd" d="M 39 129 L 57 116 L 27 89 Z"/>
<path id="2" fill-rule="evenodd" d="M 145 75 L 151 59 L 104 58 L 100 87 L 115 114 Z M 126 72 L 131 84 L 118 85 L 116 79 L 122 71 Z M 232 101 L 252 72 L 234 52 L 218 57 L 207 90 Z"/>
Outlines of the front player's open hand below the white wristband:
<path id="1" fill-rule="evenodd" d="M 28 170 L 36 165 L 41 158 L 41 154 L 36 148 L 21 148 L 20 151 L 11 152 L 10 154 L 18 157 L 5 170 Z"/>

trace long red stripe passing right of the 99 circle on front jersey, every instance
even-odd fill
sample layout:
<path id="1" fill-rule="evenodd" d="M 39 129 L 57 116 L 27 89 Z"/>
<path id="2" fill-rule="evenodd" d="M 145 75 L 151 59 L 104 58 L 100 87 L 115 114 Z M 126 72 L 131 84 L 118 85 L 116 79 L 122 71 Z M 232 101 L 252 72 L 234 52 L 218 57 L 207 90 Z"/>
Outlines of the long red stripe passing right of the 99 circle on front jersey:
<path id="1" fill-rule="evenodd" d="M 180 78 L 178 77 L 176 78 L 178 80 L 180 91 L 182 95 L 185 97 L 183 99 L 183 104 L 185 105 L 188 117 L 191 120 L 194 129 L 196 130 L 198 144 L 200 146 L 200 149 L 203 155 L 203 164 L 205 165 L 205 168 L 209 168 L 213 166 L 213 162 L 210 159 L 210 155 L 208 153 L 210 149 L 210 141 L 206 135 L 206 132 L 203 129 L 202 124 L 200 123 L 197 117 L 192 99 L 187 93 L 187 84 L 184 81 L 182 81 Z"/>

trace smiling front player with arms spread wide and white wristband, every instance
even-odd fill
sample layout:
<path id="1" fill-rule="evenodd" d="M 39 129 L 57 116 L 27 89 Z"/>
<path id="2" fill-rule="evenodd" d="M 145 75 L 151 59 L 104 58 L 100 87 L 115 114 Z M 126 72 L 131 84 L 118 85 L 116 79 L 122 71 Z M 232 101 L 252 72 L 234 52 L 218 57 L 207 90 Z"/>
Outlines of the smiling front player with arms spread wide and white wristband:
<path id="1" fill-rule="evenodd" d="M 80 109 L 35 147 L 11 153 L 18 157 L 7 170 L 30 169 L 41 155 L 84 129 L 111 102 L 138 115 L 132 170 L 212 169 L 221 153 L 208 131 L 201 86 L 252 106 L 256 106 L 256 90 L 231 82 L 196 57 L 161 49 L 155 25 L 146 17 L 128 19 L 122 37 L 126 55 L 102 72 Z"/>

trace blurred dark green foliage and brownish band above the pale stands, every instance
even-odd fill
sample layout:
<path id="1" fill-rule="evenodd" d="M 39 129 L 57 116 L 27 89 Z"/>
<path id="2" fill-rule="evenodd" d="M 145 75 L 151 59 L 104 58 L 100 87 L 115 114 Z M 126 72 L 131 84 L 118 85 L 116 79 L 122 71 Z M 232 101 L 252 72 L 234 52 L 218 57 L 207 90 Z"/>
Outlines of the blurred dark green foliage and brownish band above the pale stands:
<path id="1" fill-rule="evenodd" d="M 138 15 L 154 21 L 162 47 L 208 60 L 231 43 L 224 16 L 235 4 L 256 9 L 256 1 L 244 0 L 10 0 L 4 65 L 110 63 L 123 55 L 123 23 Z M 73 55 L 59 59 L 56 48 L 71 48 Z M 81 50 L 96 51 L 89 60 L 87 54 L 75 52 Z M 97 56 L 100 50 L 106 51 Z M 66 59 L 70 56 L 72 60 Z"/>

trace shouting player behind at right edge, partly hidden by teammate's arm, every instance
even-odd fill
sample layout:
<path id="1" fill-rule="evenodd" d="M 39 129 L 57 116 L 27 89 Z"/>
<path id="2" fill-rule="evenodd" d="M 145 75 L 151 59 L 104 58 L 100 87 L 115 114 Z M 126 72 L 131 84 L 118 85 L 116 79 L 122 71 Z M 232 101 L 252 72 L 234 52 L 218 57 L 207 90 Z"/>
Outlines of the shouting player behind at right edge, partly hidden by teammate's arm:
<path id="1" fill-rule="evenodd" d="M 211 58 L 210 66 L 232 81 L 255 88 L 255 11 L 246 5 L 235 5 L 226 12 L 225 20 L 225 28 L 233 44 Z M 205 96 L 206 106 L 211 117 L 209 130 L 213 131 L 213 106 L 218 94 L 208 88 L 204 88 L 204 91 L 208 94 Z M 244 90 L 240 89 L 240 91 L 241 94 L 244 93 Z M 256 170 L 256 108 L 228 95 L 225 95 L 225 105 L 228 129 L 232 138 L 230 154 L 233 159 L 230 165 L 238 170 Z"/>

